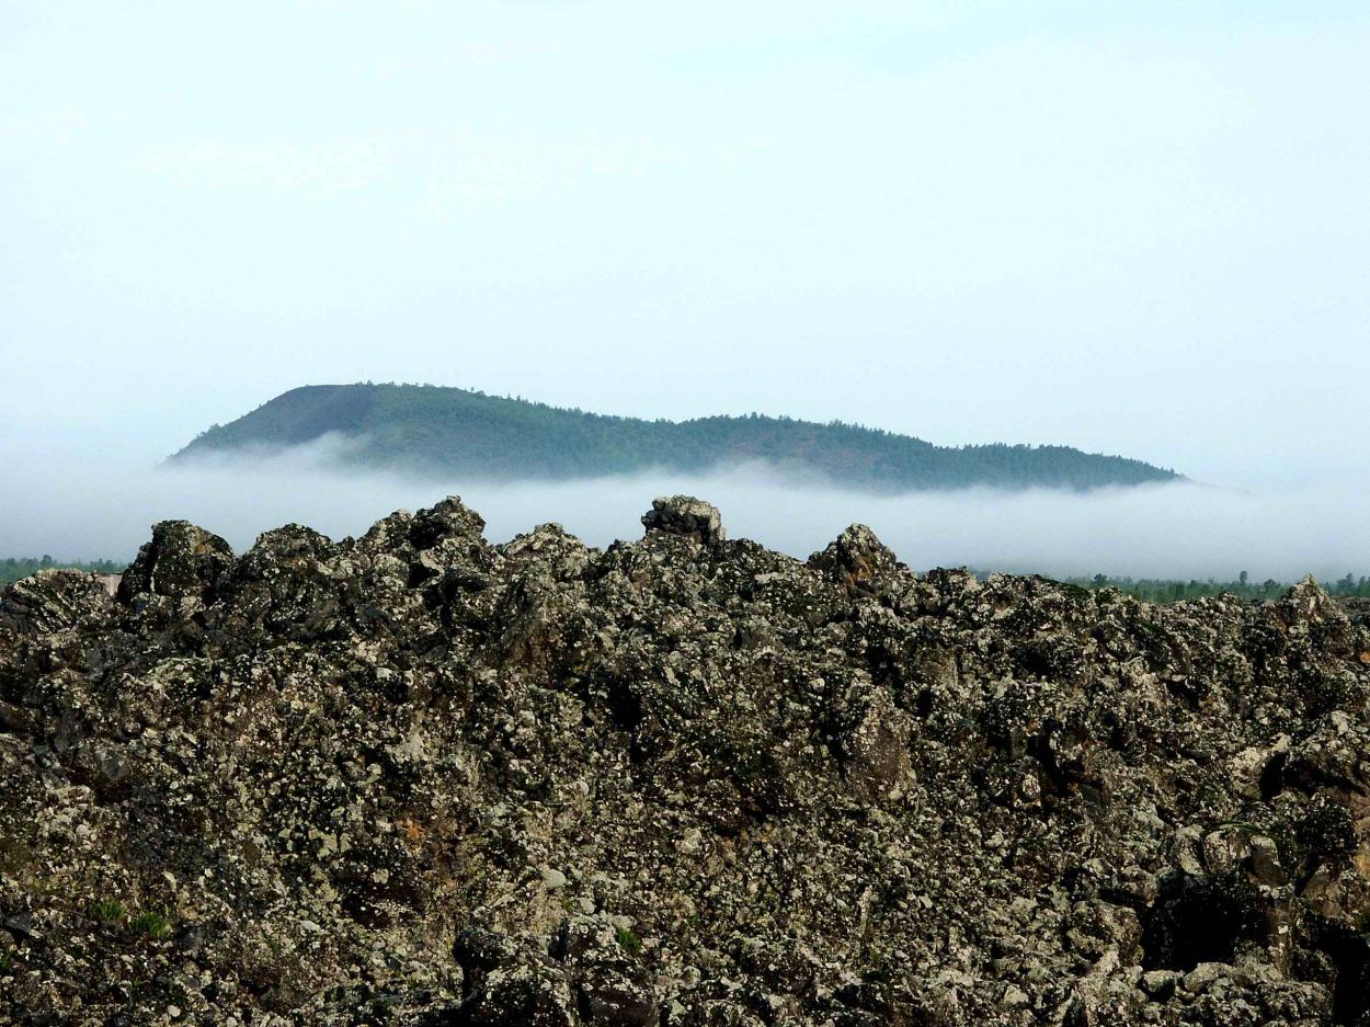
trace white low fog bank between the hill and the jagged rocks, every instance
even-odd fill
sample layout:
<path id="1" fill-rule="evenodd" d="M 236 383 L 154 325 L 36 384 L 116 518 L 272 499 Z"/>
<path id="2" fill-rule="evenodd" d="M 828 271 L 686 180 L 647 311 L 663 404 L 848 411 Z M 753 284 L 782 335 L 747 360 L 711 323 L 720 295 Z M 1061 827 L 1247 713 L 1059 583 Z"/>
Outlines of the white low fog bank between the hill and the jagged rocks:
<path id="1" fill-rule="evenodd" d="M 796 486 L 766 467 L 690 477 L 671 472 L 574 482 L 419 479 L 329 470 L 326 452 L 149 467 L 52 459 L 5 500 L 0 556 L 132 559 L 155 520 L 185 518 L 237 552 L 264 530 L 308 524 L 359 535 L 392 509 L 459 494 L 507 541 L 558 522 L 604 546 L 641 535 L 653 496 L 688 493 L 718 505 L 730 538 L 804 557 L 852 522 L 870 524 L 915 570 L 1052 576 L 1319 579 L 1370 572 L 1370 500 L 1332 489 L 1258 494 L 1195 483 L 1091 493 L 964 490 L 869 496 Z"/>

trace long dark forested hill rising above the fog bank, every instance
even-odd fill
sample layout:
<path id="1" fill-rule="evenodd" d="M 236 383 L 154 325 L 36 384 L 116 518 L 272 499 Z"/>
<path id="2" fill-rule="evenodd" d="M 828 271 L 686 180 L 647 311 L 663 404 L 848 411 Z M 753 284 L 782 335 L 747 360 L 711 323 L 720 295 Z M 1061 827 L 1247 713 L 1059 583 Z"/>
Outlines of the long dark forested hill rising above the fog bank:
<path id="1" fill-rule="evenodd" d="M 748 415 L 641 420 L 429 385 L 292 389 L 200 434 L 174 461 L 277 451 L 334 434 L 351 466 L 486 478 L 578 478 L 648 468 L 706 471 L 764 461 L 880 492 L 974 485 L 1091 489 L 1178 478 L 1140 460 L 1069 446 L 937 446 L 833 422 Z"/>

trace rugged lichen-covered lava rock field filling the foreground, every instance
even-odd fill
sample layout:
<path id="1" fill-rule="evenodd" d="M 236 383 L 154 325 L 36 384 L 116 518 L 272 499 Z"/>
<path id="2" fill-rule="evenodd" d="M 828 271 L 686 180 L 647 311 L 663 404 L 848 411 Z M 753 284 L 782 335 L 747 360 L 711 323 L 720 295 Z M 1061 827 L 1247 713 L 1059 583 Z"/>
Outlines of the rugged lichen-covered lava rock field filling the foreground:
<path id="1" fill-rule="evenodd" d="M 1370 630 L 458 500 L 0 596 L 0 1023 L 1370 1024 Z"/>

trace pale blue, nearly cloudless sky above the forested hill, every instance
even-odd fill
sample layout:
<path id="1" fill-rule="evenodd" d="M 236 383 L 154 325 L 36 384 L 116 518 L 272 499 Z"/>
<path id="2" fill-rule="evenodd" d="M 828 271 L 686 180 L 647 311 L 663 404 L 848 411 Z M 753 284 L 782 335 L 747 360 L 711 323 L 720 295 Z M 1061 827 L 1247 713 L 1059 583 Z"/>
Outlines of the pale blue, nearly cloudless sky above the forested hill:
<path id="1" fill-rule="evenodd" d="M 360 379 L 1370 457 L 1363 3 L 4 0 L 0 96 L 11 467 Z"/>

